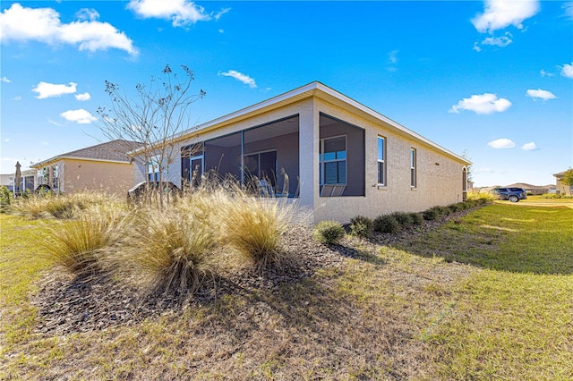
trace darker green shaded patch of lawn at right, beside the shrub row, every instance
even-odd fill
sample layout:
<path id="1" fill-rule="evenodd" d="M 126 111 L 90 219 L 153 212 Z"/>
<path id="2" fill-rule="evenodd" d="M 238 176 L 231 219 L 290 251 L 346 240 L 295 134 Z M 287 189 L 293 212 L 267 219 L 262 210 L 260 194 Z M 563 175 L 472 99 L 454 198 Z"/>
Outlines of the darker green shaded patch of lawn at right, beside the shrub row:
<path id="1" fill-rule="evenodd" d="M 509 272 L 573 274 L 573 210 L 494 204 L 402 246 L 425 257 Z"/>

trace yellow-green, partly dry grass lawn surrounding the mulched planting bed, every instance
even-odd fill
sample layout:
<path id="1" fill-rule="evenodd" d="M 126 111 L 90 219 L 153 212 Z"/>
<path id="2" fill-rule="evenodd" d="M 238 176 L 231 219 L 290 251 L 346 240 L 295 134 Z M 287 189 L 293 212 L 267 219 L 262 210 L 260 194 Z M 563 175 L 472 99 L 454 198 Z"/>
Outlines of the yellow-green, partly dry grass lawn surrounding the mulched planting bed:
<path id="1" fill-rule="evenodd" d="M 573 209 L 495 203 L 291 284 L 42 333 L 42 221 L 0 215 L 2 379 L 573 379 Z M 336 250 L 335 250 L 336 251 Z M 300 253 L 304 257 L 305 253 Z"/>

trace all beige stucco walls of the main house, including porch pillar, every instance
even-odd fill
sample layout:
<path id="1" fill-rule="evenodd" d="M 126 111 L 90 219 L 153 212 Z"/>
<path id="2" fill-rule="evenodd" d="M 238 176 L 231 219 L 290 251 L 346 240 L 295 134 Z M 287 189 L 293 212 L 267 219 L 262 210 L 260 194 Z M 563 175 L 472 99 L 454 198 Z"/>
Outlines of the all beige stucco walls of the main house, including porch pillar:
<path id="1" fill-rule="evenodd" d="M 364 130 L 366 163 L 363 196 L 321 198 L 319 186 L 319 148 L 321 113 L 354 124 Z M 406 132 L 396 131 L 383 122 L 372 122 L 346 108 L 335 106 L 318 97 L 307 97 L 293 104 L 219 127 L 214 131 L 197 134 L 192 139 L 175 145 L 181 147 L 210 140 L 264 123 L 297 114 L 299 116 L 299 177 L 300 197 L 310 220 L 335 219 L 348 222 L 357 215 L 380 216 L 393 211 L 423 211 L 436 205 L 449 205 L 463 199 L 464 163 L 423 142 L 416 142 Z M 386 138 L 387 185 L 377 184 L 378 136 Z M 410 187 L 410 149 L 417 153 L 417 186 Z M 350 154 L 350 153 L 349 153 Z M 278 160 L 279 157 L 278 157 Z M 207 165 L 207 164 L 206 164 Z M 280 166 L 280 164 L 279 164 Z M 349 168 L 349 170 L 351 170 Z M 145 168 L 135 165 L 135 181 L 143 181 Z M 181 186 L 181 157 L 175 157 L 169 166 L 169 180 Z M 293 179 L 291 177 L 291 187 Z"/>

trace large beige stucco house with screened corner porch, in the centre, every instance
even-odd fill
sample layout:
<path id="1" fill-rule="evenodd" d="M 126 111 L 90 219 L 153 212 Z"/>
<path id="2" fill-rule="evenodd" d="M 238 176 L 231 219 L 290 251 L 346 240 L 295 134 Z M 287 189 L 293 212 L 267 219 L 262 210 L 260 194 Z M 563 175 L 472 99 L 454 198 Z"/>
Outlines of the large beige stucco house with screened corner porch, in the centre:
<path id="1" fill-rule="evenodd" d="M 471 164 L 320 82 L 170 141 L 180 155 L 163 165 L 163 178 L 180 187 L 208 171 L 247 185 L 264 179 L 277 196 L 296 199 L 311 222 L 462 201 Z M 141 151 L 132 155 L 140 157 L 134 182 L 154 178 L 158 165 L 138 164 Z"/>

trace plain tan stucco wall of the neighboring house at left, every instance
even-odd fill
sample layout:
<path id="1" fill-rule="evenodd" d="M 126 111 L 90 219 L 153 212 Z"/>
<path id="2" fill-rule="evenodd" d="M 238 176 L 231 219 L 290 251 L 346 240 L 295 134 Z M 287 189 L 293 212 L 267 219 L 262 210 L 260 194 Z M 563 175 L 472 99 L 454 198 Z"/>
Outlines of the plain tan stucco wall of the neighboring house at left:
<path id="1" fill-rule="evenodd" d="M 94 190 L 125 196 L 133 187 L 133 165 L 128 163 L 66 159 L 63 172 L 65 193 Z"/>

